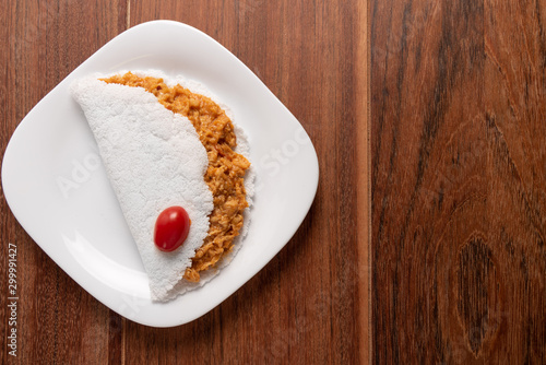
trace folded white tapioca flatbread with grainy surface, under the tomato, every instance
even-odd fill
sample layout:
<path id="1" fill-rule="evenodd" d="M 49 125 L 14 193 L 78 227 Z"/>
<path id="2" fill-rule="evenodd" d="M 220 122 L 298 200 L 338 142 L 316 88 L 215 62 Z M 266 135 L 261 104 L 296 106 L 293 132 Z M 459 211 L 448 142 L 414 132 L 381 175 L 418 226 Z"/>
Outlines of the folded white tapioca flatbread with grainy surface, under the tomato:
<path id="1" fill-rule="evenodd" d="M 143 76 L 142 72 L 139 74 Z M 157 76 L 157 72 L 154 75 Z M 200 140 L 192 121 L 180 113 L 167 109 L 159 103 L 159 96 L 150 90 L 99 79 L 99 75 L 93 75 L 76 81 L 72 85 L 72 94 L 84 110 L 97 141 L 106 172 L 149 275 L 152 298 L 170 299 L 203 285 L 219 268 L 229 263 L 248 229 L 248 214 L 245 212 L 245 221 L 240 222 L 235 235 L 232 228 L 223 233 L 224 236 L 218 234 L 217 224 L 211 225 L 211 216 L 218 216 L 224 208 L 213 203 L 213 200 L 218 200 L 218 192 L 211 189 L 213 182 L 210 179 L 206 182 L 204 177 L 215 172 L 211 169 L 213 161 L 210 161 L 207 150 L 222 150 L 222 146 L 211 148 L 203 136 Z M 235 146 L 232 143 L 232 146 L 238 152 L 248 152 L 242 131 L 238 128 L 235 131 L 238 144 Z M 237 158 L 234 160 L 236 163 Z M 245 161 L 241 156 L 238 163 L 244 165 Z M 214 168 L 218 168 L 218 161 L 214 164 Z M 245 174 L 245 168 L 242 173 L 239 169 L 239 174 Z M 251 174 L 247 174 L 242 187 L 247 200 L 239 197 L 238 215 L 242 215 L 247 202 L 251 202 L 252 179 Z M 240 187 L 237 189 L 241 190 Z M 158 214 L 173 205 L 186 209 L 191 226 L 181 247 L 164 252 L 153 243 L 154 225 Z M 238 215 L 234 219 L 237 222 Z M 212 263 L 205 261 L 203 264 L 203 258 L 195 258 L 197 250 L 203 257 L 218 251 L 215 240 L 225 242 L 225 236 L 233 237 L 221 248 L 222 255 L 211 260 Z M 212 247 L 210 252 L 209 247 Z"/>

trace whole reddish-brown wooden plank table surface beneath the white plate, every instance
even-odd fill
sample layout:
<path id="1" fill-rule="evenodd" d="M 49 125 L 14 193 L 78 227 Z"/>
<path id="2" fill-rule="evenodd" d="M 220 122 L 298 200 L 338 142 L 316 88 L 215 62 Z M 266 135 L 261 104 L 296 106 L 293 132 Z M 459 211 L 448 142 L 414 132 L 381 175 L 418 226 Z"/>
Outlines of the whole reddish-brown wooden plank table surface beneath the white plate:
<path id="1" fill-rule="evenodd" d="M 2 154 L 75 67 L 155 19 L 217 39 L 298 118 L 313 205 L 227 301 L 154 329 L 82 290 L 0 199 L 2 363 L 546 363 L 544 1 L 4 1 Z"/>

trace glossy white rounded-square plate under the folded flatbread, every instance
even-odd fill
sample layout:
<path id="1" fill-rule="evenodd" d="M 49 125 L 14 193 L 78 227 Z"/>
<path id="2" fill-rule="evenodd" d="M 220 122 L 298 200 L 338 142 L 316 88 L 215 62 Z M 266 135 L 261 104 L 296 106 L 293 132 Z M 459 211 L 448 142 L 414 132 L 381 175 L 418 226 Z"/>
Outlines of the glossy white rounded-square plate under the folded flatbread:
<path id="1" fill-rule="evenodd" d="M 203 83 L 249 136 L 257 192 L 249 233 L 229 266 L 203 287 L 159 304 L 150 298 L 136 246 L 70 83 L 93 72 L 159 69 Z M 290 239 L 319 178 L 301 125 L 241 61 L 204 33 L 170 21 L 120 34 L 23 119 L 2 163 L 5 199 L 31 237 L 83 289 L 139 323 L 171 327 L 226 299 Z"/>

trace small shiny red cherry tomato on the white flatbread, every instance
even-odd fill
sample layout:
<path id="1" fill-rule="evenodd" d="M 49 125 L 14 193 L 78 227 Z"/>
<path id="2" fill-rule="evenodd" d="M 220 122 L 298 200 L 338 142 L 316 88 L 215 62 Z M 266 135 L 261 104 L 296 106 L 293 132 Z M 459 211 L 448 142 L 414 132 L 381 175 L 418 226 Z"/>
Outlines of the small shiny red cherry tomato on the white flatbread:
<path id="1" fill-rule="evenodd" d="M 180 247 L 190 232 L 190 216 L 182 207 L 169 207 L 157 216 L 154 243 L 162 251 L 170 252 Z"/>

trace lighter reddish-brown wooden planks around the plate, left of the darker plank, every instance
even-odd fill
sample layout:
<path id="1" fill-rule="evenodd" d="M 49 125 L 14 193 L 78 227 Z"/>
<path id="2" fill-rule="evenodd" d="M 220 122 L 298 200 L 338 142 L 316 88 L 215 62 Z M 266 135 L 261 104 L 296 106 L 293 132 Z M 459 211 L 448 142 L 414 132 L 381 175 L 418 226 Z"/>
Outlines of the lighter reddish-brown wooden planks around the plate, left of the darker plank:
<path id="1" fill-rule="evenodd" d="M 129 26 L 171 19 L 221 42 L 273 91 L 308 131 L 321 169 L 314 203 L 281 254 L 217 308 L 173 329 L 136 325 L 95 301 L 34 244 L 2 199 L 1 244 L 15 243 L 20 252 L 16 361 L 367 362 L 366 16 L 366 2 L 341 0 L 2 3 L 2 153 L 25 114 L 93 51 Z M 7 255 L 3 248 L 1 278 Z M 0 291 L 5 344 L 7 281 Z M 14 361 L 3 349 L 2 363 Z"/>

